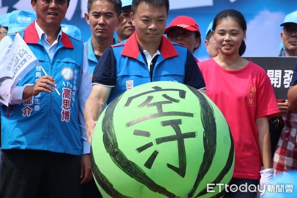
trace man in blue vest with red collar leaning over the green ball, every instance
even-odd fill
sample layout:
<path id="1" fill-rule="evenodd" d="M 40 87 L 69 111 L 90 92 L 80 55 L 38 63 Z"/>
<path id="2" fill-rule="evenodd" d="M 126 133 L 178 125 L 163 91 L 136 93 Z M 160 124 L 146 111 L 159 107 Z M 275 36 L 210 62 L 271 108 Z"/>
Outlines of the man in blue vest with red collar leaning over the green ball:
<path id="1" fill-rule="evenodd" d="M 126 90 L 152 81 L 175 81 L 205 93 L 192 53 L 163 36 L 169 0 L 133 0 L 131 11 L 135 33 L 106 49 L 93 74 L 93 89 L 85 106 L 89 143 L 105 103 Z"/>

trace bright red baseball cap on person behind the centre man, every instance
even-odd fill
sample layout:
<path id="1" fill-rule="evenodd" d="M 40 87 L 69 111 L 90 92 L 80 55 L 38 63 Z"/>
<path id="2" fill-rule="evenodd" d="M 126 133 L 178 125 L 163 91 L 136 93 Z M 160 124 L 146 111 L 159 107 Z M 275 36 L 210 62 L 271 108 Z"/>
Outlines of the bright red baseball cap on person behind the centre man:
<path id="1" fill-rule="evenodd" d="M 171 21 L 171 23 L 168 25 L 168 27 L 165 29 L 164 34 L 167 34 L 171 28 L 174 27 L 181 27 L 185 28 L 186 30 L 196 32 L 198 31 L 200 34 L 200 28 L 196 21 L 189 17 L 189 16 L 178 16 L 175 19 Z"/>

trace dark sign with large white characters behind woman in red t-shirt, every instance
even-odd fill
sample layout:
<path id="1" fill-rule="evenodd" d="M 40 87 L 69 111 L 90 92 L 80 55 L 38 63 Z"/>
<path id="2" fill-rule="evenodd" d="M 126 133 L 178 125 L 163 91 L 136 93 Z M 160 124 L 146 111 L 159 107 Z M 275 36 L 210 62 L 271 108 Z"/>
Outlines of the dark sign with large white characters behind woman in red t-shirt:
<path id="1" fill-rule="evenodd" d="M 276 99 L 287 99 L 297 57 L 245 57 L 261 66 L 270 78 Z"/>

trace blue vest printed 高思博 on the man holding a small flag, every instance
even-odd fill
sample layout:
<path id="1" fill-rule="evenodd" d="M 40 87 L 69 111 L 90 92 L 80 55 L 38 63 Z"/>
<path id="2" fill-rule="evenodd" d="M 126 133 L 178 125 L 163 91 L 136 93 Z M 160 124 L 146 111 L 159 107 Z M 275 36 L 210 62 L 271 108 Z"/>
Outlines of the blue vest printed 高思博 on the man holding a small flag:
<path id="1" fill-rule="evenodd" d="M 53 76 L 61 95 L 42 92 L 21 104 L 10 105 L 8 109 L 1 106 L 2 148 L 40 149 L 81 155 L 83 143 L 78 120 L 77 92 L 84 45 L 63 33 L 50 62 L 41 40 L 36 38 L 35 26 L 30 26 L 21 32 L 21 36 L 24 38 L 27 31 L 33 31 L 35 42 L 32 42 L 34 39 L 29 39 L 29 43 L 24 40 L 47 74 Z M 14 39 L 14 36 L 11 38 Z M 34 84 L 44 75 L 37 66 L 19 81 L 18 86 Z"/>

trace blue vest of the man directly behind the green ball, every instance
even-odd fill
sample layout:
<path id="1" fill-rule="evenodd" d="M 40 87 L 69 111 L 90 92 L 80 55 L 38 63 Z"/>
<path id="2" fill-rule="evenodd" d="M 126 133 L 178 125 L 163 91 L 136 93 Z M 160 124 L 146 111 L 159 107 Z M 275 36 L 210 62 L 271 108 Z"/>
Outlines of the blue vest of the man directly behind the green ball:
<path id="1" fill-rule="evenodd" d="M 112 46 L 116 59 L 116 84 L 111 90 L 107 104 L 129 89 L 129 83 L 130 85 L 133 83 L 133 87 L 136 87 L 151 82 L 148 65 L 140 52 L 137 58 L 122 55 L 126 42 Z M 187 48 L 177 44 L 173 44 L 173 47 L 178 55 L 169 58 L 164 58 L 162 49 L 160 50 L 161 54 L 157 57 L 152 81 L 184 83 Z"/>

